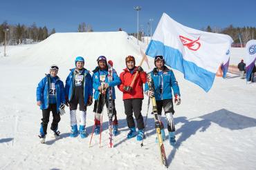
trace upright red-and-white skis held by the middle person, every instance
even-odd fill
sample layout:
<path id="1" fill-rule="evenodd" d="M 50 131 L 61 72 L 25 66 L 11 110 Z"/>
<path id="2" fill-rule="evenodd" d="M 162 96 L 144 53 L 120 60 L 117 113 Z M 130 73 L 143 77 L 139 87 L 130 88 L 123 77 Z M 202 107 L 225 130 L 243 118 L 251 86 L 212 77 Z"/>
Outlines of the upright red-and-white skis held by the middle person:
<path id="1" fill-rule="evenodd" d="M 113 81 L 113 62 L 110 60 L 108 62 L 108 72 L 109 72 L 109 82 Z M 109 148 L 113 147 L 113 87 L 109 87 L 109 108 L 108 108 L 108 116 L 109 116 Z"/>

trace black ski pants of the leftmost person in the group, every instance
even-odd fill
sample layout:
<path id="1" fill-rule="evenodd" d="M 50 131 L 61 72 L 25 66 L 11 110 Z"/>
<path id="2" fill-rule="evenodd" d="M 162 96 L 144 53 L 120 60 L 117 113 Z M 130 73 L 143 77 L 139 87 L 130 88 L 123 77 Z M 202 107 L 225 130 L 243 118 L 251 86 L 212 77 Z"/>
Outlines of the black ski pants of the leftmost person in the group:
<path id="1" fill-rule="evenodd" d="M 44 130 L 44 134 L 47 134 L 47 126 L 49 123 L 50 112 L 53 113 L 53 123 L 51 124 L 51 130 L 56 131 L 58 127 L 58 123 L 60 122 L 60 113 L 57 113 L 57 105 L 56 104 L 49 104 L 48 109 L 42 109 L 43 118 L 42 120 L 42 127 Z"/>

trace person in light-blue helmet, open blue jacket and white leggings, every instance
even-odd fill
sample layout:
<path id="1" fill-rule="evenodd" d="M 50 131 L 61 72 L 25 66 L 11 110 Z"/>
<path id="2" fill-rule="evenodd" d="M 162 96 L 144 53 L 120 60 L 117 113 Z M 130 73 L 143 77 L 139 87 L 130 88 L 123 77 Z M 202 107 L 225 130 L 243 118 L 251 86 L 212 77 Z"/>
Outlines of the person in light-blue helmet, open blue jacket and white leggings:
<path id="1" fill-rule="evenodd" d="M 66 78 L 66 105 L 69 105 L 71 118 L 71 138 L 78 135 L 76 110 L 80 110 L 80 137 L 86 138 L 86 108 L 93 103 L 93 82 L 91 74 L 84 68 L 84 58 L 75 58 L 75 68 L 71 69 Z"/>

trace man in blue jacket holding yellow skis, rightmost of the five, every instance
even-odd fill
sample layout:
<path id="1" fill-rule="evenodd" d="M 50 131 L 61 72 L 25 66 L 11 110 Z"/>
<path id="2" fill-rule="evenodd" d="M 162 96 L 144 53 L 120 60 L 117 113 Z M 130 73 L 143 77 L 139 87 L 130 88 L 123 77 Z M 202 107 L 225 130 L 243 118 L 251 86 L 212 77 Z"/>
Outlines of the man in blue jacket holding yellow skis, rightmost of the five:
<path id="1" fill-rule="evenodd" d="M 179 85 L 176 81 L 172 70 L 165 66 L 165 59 L 163 56 L 155 56 L 155 68 L 150 72 L 154 81 L 154 92 L 149 91 L 148 84 L 145 84 L 145 93 L 148 96 L 154 95 L 156 98 L 156 106 L 158 111 L 158 119 L 161 120 L 162 109 L 165 111 L 165 117 L 168 121 L 167 129 L 169 131 L 170 145 L 175 145 L 175 126 L 174 126 L 174 105 L 172 102 L 172 90 L 174 93 L 174 103 L 181 104 L 181 94 Z M 161 134 L 165 140 L 165 130 L 163 122 L 161 122 Z M 157 138 L 156 138 L 156 141 Z"/>

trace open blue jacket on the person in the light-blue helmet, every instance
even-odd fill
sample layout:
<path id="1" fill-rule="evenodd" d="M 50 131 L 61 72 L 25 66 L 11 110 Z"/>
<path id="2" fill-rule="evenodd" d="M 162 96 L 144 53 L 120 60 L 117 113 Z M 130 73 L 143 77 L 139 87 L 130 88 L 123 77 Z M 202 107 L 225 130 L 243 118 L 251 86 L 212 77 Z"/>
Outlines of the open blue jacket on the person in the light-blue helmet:
<path id="1" fill-rule="evenodd" d="M 93 96 L 93 83 L 91 74 L 88 70 L 83 69 L 84 74 L 84 103 L 87 103 L 87 100 L 89 96 Z M 66 78 L 66 85 L 65 85 L 65 93 L 66 98 L 68 98 L 68 101 L 70 102 L 74 95 L 74 88 L 75 88 L 75 68 L 71 69 L 71 72 L 68 74 L 68 77 Z"/>

